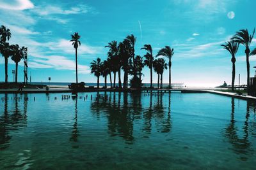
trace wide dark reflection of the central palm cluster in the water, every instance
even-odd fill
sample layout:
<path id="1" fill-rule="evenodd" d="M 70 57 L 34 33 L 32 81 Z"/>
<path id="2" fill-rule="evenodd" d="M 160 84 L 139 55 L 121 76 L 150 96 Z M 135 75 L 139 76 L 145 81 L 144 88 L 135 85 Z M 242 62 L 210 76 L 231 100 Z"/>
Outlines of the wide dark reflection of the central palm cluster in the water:
<path id="1" fill-rule="evenodd" d="M 163 93 L 153 94 L 152 92 L 144 94 L 149 97 L 149 106 L 142 106 L 141 93 L 116 92 L 111 99 L 98 97 L 98 100 L 92 103 L 92 113 L 100 114 L 108 118 L 108 132 L 110 136 L 121 136 L 126 143 L 134 141 L 134 121 L 142 120 L 142 132 L 145 132 L 144 138 L 148 138 L 152 131 L 152 119 L 156 123 L 158 132 L 170 132 L 171 123 L 171 94 L 168 94 L 168 110 L 163 106 Z M 157 102 L 153 104 L 153 97 Z M 107 97 L 108 98 L 108 97 Z M 116 101 L 116 98 L 118 101 Z M 122 99 L 122 101 L 121 101 Z M 99 101 L 100 100 L 100 101 Z M 101 112 L 100 112 L 101 111 Z"/>

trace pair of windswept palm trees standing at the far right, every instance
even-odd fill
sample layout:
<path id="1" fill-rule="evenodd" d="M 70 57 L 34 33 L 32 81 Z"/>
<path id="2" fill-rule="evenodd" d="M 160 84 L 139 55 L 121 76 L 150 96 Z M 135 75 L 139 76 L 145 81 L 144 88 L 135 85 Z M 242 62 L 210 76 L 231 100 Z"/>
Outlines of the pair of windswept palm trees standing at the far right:
<path id="1" fill-rule="evenodd" d="M 231 62 L 232 62 L 232 91 L 234 91 L 234 82 L 236 76 L 236 53 L 238 51 L 239 45 L 244 45 L 245 54 L 246 54 L 246 70 L 247 70 L 247 85 L 249 85 L 250 81 L 250 61 L 249 57 L 252 55 L 256 55 L 256 48 L 250 51 L 250 45 L 253 40 L 253 36 L 255 34 L 255 29 L 253 29 L 252 34 L 249 34 L 247 29 L 241 29 L 236 32 L 236 34 L 230 39 L 230 41 L 226 42 L 223 46 L 228 52 L 231 54 Z"/>

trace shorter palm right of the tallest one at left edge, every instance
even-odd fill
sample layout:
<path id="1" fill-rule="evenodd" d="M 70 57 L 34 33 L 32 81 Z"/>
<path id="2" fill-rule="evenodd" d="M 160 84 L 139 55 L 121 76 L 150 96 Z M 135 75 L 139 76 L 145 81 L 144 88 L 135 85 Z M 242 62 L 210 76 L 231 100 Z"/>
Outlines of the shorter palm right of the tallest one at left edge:
<path id="1" fill-rule="evenodd" d="M 20 62 L 21 59 L 24 58 L 24 50 L 25 47 L 22 46 L 20 48 L 19 45 L 12 45 L 12 60 L 15 62 L 15 83 L 17 83 L 18 80 L 18 63 Z"/>

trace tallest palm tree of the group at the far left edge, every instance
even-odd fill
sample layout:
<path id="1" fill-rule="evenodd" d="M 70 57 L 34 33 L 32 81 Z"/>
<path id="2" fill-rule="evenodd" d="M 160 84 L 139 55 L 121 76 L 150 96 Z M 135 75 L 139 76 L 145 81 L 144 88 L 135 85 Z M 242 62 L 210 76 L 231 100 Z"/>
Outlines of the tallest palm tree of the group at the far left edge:
<path id="1" fill-rule="evenodd" d="M 4 25 L 0 27 L 0 50 L 1 54 L 4 57 L 4 67 L 5 67 L 5 83 L 8 82 L 8 57 L 10 56 L 10 46 L 9 43 L 6 43 L 6 40 L 9 41 L 12 34 L 10 29 L 6 29 Z"/>

